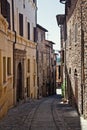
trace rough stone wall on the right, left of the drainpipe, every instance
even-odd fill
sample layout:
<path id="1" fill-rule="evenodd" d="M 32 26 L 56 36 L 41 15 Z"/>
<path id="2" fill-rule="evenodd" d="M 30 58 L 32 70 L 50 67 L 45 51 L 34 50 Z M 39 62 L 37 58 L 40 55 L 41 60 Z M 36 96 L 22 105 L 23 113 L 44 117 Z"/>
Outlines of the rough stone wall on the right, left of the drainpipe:
<path id="1" fill-rule="evenodd" d="M 69 89 L 72 89 L 73 95 L 70 100 L 81 113 L 81 7 L 79 0 L 67 21 L 66 66 L 70 81 Z"/>

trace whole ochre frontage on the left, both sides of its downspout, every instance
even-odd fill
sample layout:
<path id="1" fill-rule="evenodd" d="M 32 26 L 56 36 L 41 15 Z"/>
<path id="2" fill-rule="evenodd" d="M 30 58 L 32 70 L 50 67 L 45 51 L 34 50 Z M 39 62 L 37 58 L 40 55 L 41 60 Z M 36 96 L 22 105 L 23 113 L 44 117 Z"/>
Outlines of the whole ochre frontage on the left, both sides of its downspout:
<path id="1" fill-rule="evenodd" d="M 0 117 L 37 98 L 36 0 L 0 1 Z"/>

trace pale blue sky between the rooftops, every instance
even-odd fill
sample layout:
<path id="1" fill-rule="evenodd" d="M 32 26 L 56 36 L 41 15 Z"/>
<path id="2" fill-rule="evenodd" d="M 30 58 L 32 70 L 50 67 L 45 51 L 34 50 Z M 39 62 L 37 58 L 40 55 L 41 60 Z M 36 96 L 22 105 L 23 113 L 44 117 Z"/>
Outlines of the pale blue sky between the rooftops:
<path id="1" fill-rule="evenodd" d="M 46 39 L 55 43 L 54 49 L 60 50 L 60 28 L 56 15 L 64 14 L 64 5 L 59 0 L 37 0 L 37 23 L 48 30 Z"/>

